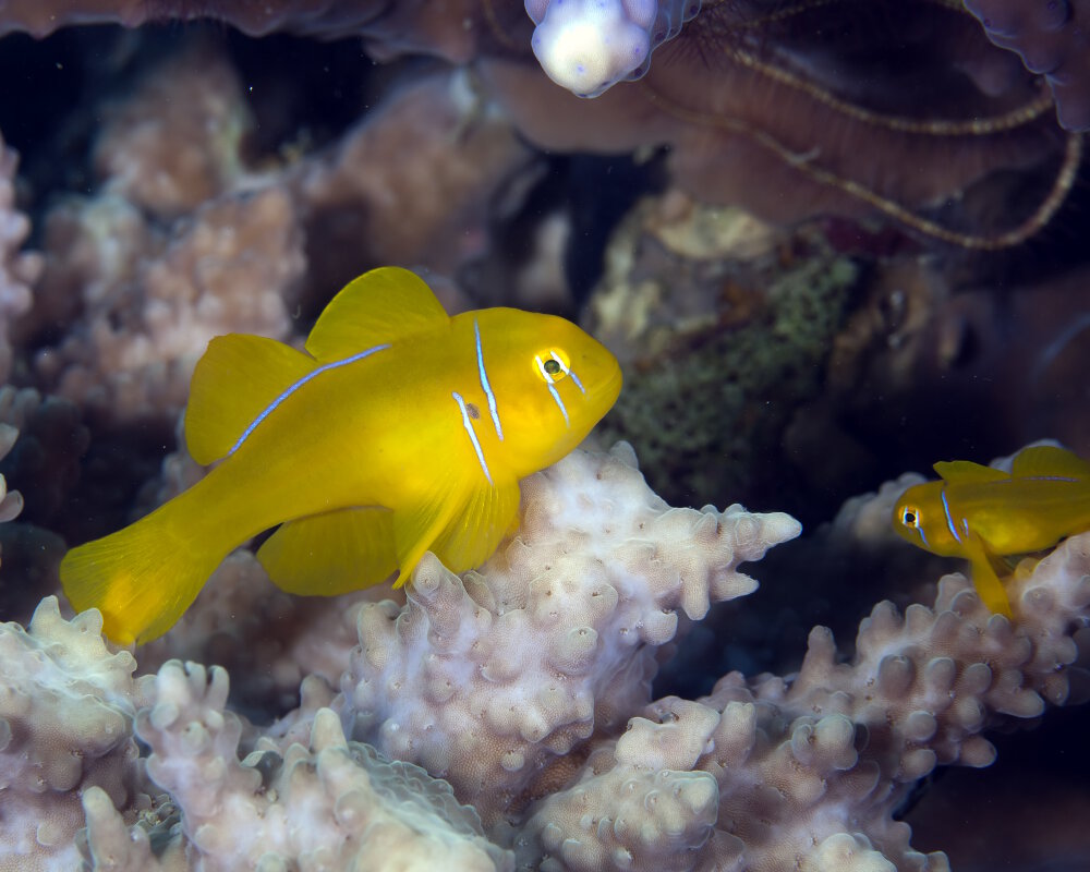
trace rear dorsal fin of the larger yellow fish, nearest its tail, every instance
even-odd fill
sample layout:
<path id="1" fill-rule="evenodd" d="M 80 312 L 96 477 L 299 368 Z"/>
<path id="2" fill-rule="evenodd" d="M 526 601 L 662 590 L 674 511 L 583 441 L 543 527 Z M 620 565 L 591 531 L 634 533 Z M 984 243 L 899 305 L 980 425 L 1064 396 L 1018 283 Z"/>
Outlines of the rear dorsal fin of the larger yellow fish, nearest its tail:
<path id="1" fill-rule="evenodd" d="M 290 346 L 264 336 L 217 336 L 197 361 L 185 409 L 185 444 L 197 463 L 226 457 L 254 420 L 289 386 L 317 367 Z"/>

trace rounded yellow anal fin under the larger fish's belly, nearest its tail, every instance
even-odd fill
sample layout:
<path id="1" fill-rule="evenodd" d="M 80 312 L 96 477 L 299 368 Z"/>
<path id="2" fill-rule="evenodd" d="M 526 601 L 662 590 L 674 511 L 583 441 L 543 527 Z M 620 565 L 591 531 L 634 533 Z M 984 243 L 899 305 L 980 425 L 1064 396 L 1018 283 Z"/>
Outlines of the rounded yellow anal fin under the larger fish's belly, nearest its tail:
<path id="1" fill-rule="evenodd" d="M 257 559 L 282 591 L 336 596 L 378 584 L 398 567 L 393 514 L 363 508 L 312 514 L 280 525 Z"/>

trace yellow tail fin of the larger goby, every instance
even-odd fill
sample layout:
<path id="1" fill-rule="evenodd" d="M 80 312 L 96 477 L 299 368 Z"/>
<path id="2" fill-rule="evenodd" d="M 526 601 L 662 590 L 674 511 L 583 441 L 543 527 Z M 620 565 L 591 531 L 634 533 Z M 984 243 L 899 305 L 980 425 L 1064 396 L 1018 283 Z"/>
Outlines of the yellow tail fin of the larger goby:
<path id="1" fill-rule="evenodd" d="M 102 613 L 106 634 L 119 644 L 162 635 L 196 598 L 223 558 L 177 535 L 169 505 L 117 533 L 72 548 L 61 583 L 77 611 Z"/>

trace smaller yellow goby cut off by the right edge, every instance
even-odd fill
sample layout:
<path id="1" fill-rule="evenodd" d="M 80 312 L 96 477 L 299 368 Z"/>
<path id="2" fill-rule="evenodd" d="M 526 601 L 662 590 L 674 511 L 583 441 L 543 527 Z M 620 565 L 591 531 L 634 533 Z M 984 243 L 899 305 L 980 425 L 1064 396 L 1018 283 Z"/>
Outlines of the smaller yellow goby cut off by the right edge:
<path id="1" fill-rule="evenodd" d="M 968 559 L 992 611 L 1010 616 L 1001 557 L 1090 530 L 1090 463 L 1063 448 L 1024 448 L 1009 473 L 967 460 L 935 463 L 935 472 L 941 481 L 910 487 L 897 501 L 893 528 L 932 554 Z"/>

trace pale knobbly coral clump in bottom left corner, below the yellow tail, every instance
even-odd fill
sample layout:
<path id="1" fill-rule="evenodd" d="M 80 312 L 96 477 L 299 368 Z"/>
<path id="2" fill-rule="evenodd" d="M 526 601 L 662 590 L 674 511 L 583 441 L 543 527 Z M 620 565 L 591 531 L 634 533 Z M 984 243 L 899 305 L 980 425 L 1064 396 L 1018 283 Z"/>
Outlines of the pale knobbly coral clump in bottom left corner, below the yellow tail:
<path id="1" fill-rule="evenodd" d="M 25 630 L 0 625 L 0 868 L 75 868 L 81 791 L 100 788 L 129 823 L 144 801 L 136 661 L 101 630 L 97 613 L 63 620 L 55 598 Z"/>

